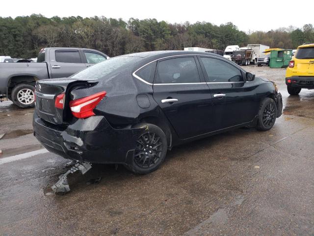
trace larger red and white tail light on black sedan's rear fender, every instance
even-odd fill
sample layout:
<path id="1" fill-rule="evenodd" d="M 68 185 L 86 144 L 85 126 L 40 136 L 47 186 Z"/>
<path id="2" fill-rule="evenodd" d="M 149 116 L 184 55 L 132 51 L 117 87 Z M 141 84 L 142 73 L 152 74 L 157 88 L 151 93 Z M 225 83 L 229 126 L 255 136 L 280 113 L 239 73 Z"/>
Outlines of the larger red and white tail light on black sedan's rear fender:
<path id="1" fill-rule="evenodd" d="M 87 118 L 94 116 L 93 110 L 97 104 L 105 97 L 106 92 L 98 92 L 88 97 L 70 101 L 70 108 L 76 118 Z"/>

